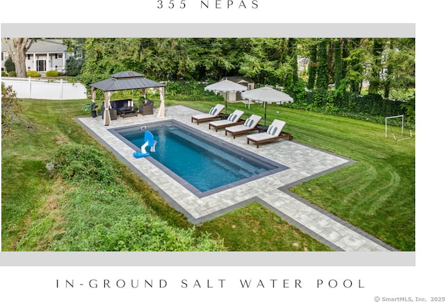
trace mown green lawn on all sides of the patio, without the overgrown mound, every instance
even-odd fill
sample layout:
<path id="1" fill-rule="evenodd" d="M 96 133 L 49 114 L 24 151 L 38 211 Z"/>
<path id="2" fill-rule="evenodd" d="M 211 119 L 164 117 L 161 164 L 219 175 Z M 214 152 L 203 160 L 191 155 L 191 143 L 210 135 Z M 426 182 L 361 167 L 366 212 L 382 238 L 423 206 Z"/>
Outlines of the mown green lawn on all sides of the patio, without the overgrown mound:
<path id="1" fill-rule="evenodd" d="M 74 117 L 83 112 L 85 100 L 24 100 L 23 118 L 31 124 L 2 140 L 2 250 L 47 250 L 70 236 L 64 202 L 75 189 L 70 182 L 50 178 L 45 165 L 61 144 L 90 144 L 108 153 L 120 171 L 132 203 L 143 205 L 175 228 L 191 228 L 184 215 L 79 126 Z M 205 101 L 166 101 L 209 110 Z M 257 104 L 229 104 L 228 111 L 245 110 L 263 115 Z M 337 153 L 357 162 L 292 189 L 305 199 L 346 219 L 387 244 L 414 251 L 414 137 L 396 142 L 385 139 L 385 126 L 330 115 L 268 106 L 268 124 L 287 122 L 285 130 L 295 140 Z M 140 215 L 141 208 L 138 207 Z M 112 215 L 102 211 L 103 215 Z M 102 215 L 102 214 L 101 214 Z M 129 212 L 131 215 L 131 212 Z M 257 203 L 195 226 L 197 235 L 211 233 L 230 251 L 327 251 L 326 246 L 282 221 Z M 74 236 L 74 235 L 73 235 Z"/>

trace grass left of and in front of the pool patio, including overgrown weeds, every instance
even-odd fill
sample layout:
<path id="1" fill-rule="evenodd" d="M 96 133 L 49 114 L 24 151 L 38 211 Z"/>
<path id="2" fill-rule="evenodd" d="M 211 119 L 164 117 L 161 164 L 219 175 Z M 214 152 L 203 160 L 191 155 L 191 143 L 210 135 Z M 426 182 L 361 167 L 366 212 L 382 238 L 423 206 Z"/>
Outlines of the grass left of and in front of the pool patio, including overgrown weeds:
<path id="1" fill-rule="evenodd" d="M 197 243 L 193 244 L 200 249 L 207 246 L 200 238 L 211 233 L 215 240 L 224 240 L 229 251 L 246 247 L 251 251 L 329 250 L 272 212 L 265 208 L 258 210 L 254 205 L 193 228 L 184 215 L 172 209 L 74 121 L 74 117 L 90 115 L 83 112 L 84 103 L 85 100 L 23 100 L 22 117 L 30 128 L 22 126 L 14 136 L 2 140 L 2 251 L 110 250 L 115 246 L 135 250 L 140 242 L 124 240 L 135 231 L 128 226 L 145 226 L 147 217 L 153 217 L 150 219 L 156 219 L 153 221 L 158 224 L 163 221 L 162 224 L 184 230 L 169 231 L 170 237 L 188 238 L 188 230 L 196 230 Z M 104 188 L 95 184 L 79 185 L 50 177 L 45 165 L 51 162 L 59 146 L 69 142 L 92 145 L 106 153 L 119 171 L 116 177 L 128 190 L 119 195 L 101 191 Z M 252 212 L 254 215 L 248 215 Z M 238 228 L 232 235 L 231 221 L 243 221 L 243 224 L 236 222 Z M 264 225 L 269 226 L 267 231 Z M 105 232 L 103 226 L 110 226 L 111 232 Z M 287 243 L 280 238 L 286 238 Z M 242 242 L 250 244 L 242 248 L 245 245 Z M 179 248 L 184 244 L 189 244 L 186 239 Z M 159 242 L 154 246 L 162 249 Z"/>

